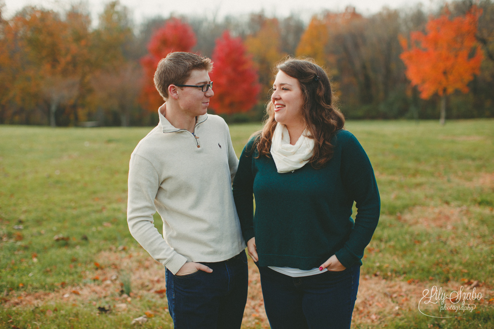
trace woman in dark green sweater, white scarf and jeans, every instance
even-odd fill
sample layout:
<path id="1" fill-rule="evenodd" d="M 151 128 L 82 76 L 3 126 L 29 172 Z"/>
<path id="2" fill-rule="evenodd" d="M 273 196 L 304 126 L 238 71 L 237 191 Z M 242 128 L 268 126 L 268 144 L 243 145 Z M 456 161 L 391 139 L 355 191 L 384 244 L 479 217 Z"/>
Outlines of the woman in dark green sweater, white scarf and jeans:
<path id="1" fill-rule="evenodd" d="M 233 183 L 242 233 L 271 328 L 350 328 L 379 219 L 374 173 L 343 130 L 324 70 L 298 59 L 277 69 L 269 117 L 244 147 Z"/>

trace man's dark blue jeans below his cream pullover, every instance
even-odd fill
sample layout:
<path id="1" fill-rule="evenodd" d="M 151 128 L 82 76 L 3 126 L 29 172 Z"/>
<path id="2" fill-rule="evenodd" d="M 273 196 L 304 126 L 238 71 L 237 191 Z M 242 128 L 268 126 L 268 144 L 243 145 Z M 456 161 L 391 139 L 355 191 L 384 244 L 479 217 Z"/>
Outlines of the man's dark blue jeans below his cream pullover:
<path id="1" fill-rule="evenodd" d="M 237 329 L 247 302 L 247 255 L 207 263 L 212 273 L 183 276 L 166 269 L 166 297 L 174 329 Z"/>

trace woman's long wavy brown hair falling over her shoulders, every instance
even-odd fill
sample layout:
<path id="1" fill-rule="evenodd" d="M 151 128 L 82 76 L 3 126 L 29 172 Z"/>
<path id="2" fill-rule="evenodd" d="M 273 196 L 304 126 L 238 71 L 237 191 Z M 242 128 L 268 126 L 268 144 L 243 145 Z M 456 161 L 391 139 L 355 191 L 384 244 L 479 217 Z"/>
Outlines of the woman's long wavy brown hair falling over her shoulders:
<path id="1" fill-rule="evenodd" d="M 304 98 L 302 120 L 314 139 L 314 149 L 309 163 L 318 169 L 323 167 L 333 155 L 330 141 L 337 130 L 345 126 L 345 117 L 336 107 L 328 74 L 311 58 L 288 58 L 276 68 L 288 76 L 296 78 Z M 268 155 L 271 139 L 276 128 L 274 104 L 270 100 L 266 106 L 267 118 L 262 131 L 257 133 L 257 155 Z"/>

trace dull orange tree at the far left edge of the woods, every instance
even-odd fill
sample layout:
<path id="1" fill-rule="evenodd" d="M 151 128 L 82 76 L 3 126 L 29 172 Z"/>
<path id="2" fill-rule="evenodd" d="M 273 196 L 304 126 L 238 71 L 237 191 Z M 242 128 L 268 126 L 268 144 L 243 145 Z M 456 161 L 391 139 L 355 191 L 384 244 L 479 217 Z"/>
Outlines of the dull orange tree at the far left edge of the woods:
<path id="1" fill-rule="evenodd" d="M 54 11 L 24 8 L 2 34 L 5 48 L 0 56 L 2 77 L 10 78 L 7 93 L 2 95 L 2 103 L 17 112 L 33 116 L 35 109 L 48 104 L 47 117 L 55 125 L 53 109 L 62 102 L 70 102 L 67 97 L 53 97 L 53 90 L 47 92 L 45 86 L 75 76 L 74 58 L 78 47 L 73 44 L 68 24 Z M 6 63 L 5 63 L 6 62 Z M 0 77 L 0 79 L 2 78 Z M 65 94 L 67 95 L 67 94 Z M 56 102 L 56 103 L 53 103 Z"/>

